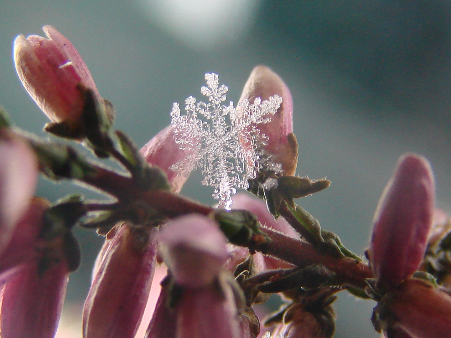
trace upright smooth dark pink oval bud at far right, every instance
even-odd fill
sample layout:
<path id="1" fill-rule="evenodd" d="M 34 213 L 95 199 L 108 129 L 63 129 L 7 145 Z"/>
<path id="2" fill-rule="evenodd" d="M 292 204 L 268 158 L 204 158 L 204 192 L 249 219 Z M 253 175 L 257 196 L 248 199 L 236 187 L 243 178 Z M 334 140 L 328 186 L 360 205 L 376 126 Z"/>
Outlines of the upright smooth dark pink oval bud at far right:
<path id="1" fill-rule="evenodd" d="M 418 269 L 432 226 L 434 196 L 428 161 L 401 156 L 374 215 L 369 257 L 378 287 L 396 287 Z"/>

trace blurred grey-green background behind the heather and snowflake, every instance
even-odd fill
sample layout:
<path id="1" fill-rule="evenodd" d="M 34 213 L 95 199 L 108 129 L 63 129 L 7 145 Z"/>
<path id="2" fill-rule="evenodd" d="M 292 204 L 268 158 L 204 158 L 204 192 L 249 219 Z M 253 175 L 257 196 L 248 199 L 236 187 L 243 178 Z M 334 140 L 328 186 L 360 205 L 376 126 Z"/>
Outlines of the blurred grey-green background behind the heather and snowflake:
<path id="1" fill-rule="evenodd" d="M 1 0 L 0 104 L 40 135 L 46 118 L 18 82 L 11 44 L 18 34 L 42 35 L 45 24 L 77 47 L 115 105 L 116 128 L 140 146 L 169 124 L 174 101 L 201 98 L 204 73 L 219 73 L 236 103 L 253 67 L 271 67 L 293 94 L 297 173 L 332 181 L 298 203 L 360 255 L 405 151 L 431 161 L 437 204 L 451 211 L 449 1 Z M 200 179 L 193 174 L 182 193 L 212 203 Z M 42 180 L 38 194 L 55 201 L 72 191 Z M 103 241 L 84 230 L 77 236 L 83 261 L 69 305 L 86 296 Z M 343 292 L 336 304 L 335 337 L 377 337 L 373 302 Z"/>

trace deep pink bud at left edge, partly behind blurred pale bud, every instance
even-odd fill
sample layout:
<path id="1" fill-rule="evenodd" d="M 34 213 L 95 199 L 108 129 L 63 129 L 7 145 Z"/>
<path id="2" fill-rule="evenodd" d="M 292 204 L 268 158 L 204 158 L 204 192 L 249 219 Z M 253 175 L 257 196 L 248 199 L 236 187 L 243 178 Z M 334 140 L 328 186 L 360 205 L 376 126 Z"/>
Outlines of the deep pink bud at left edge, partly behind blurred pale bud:
<path id="1" fill-rule="evenodd" d="M 41 244 L 39 234 L 43 217 L 49 206 L 50 203 L 43 198 L 32 198 L 28 210 L 17 223 L 8 246 L 0 256 L 0 284 L 36 259 L 37 249 Z"/>

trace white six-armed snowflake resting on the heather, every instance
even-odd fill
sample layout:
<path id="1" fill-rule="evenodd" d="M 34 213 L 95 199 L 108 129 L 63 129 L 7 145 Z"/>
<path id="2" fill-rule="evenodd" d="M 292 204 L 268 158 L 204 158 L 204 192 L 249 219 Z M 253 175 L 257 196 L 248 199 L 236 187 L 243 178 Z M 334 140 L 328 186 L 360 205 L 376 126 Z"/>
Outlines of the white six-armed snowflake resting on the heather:
<path id="1" fill-rule="evenodd" d="M 180 114 L 177 103 L 172 107 L 174 140 L 191 155 L 170 169 L 187 175 L 200 167 L 204 176 L 202 184 L 215 187 L 213 197 L 219 201 L 219 207 L 229 209 L 231 195 L 237 188 L 246 189 L 248 179 L 255 178 L 262 165 L 278 167 L 262 151 L 267 137 L 257 126 L 271 121 L 270 115 L 276 113 L 282 98 L 274 95 L 262 102 L 257 97 L 253 104 L 243 100 L 237 108 L 232 101 L 222 105 L 228 88 L 219 86 L 215 73 L 205 74 L 205 80 L 208 87 L 202 87 L 201 93 L 208 97 L 208 103 L 196 103 L 189 96 L 185 100 L 185 115 Z"/>

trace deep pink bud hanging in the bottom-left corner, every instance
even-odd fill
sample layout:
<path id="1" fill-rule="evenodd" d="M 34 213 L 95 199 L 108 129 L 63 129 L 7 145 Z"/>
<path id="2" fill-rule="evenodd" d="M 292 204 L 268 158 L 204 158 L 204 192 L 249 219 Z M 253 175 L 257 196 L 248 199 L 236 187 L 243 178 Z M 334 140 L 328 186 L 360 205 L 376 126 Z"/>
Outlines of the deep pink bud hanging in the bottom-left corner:
<path id="1" fill-rule="evenodd" d="M 60 320 L 69 269 L 64 259 L 35 261 L 5 285 L 2 338 L 53 338 Z"/>

